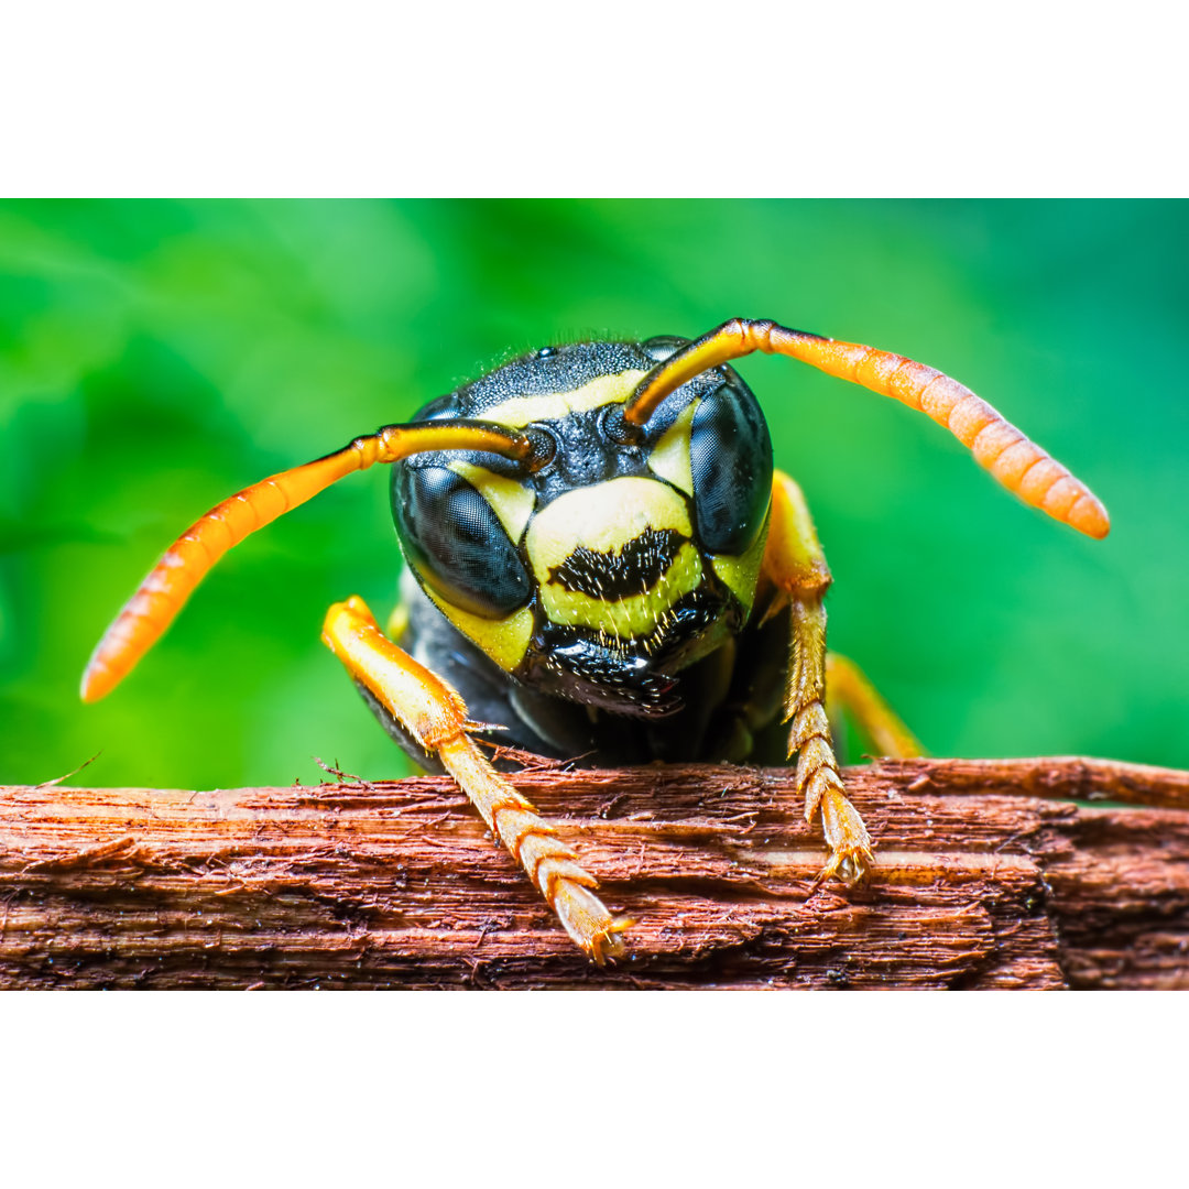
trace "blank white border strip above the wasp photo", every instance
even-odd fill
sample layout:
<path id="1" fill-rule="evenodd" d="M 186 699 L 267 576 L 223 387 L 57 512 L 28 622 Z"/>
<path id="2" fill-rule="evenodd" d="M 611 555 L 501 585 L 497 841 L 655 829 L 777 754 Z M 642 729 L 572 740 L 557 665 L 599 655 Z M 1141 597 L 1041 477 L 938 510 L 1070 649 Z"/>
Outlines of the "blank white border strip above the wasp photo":
<path id="1" fill-rule="evenodd" d="M 0 194 L 1183 195 L 1175 12 L 40 0 Z"/>

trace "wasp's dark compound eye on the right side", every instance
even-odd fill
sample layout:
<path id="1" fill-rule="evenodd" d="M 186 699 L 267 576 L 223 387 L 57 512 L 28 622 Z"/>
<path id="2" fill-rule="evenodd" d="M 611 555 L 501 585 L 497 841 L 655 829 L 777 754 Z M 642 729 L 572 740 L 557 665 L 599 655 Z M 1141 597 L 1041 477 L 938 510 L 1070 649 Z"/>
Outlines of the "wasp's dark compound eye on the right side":
<path id="1" fill-rule="evenodd" d="M 690 470 L 703 548 L 743 553 L 763 527 L 772 498 L 772 438 L 750 391 L 724 384 L 698 405 Z"/>

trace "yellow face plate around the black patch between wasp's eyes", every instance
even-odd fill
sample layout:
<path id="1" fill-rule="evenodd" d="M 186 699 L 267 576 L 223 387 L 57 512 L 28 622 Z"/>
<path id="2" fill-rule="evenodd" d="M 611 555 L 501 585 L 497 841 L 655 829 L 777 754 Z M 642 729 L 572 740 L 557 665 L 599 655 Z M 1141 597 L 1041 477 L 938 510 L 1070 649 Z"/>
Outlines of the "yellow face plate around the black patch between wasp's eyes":
<path id="1" fill-rule="evenodd" d="M 650 633 L 702 581 L 702 559 L 692 545 L 681 546 L 652 590 L 624 598 L 593 598 L 549 579 L 551 570 L 579 546 L 594 553 L 621 553 L 649 528 L 693 535 L 685 501 L 656 479 L 628 477 L 579 487 L 537 512 L 526 545 L 546 615 L 554 623 L 578 624 L 621 640 Z"/>

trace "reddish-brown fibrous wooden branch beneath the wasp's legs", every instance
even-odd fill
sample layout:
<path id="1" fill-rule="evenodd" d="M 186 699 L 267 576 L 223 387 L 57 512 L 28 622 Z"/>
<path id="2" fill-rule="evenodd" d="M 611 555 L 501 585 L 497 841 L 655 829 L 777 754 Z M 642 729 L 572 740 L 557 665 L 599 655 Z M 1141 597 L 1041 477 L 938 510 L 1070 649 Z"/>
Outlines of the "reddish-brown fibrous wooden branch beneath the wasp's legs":
<path id="1" fill-rule="evenodd" d="M 1189 773 L 845 776 L 877 845 L 850 893 L 813 889 L 788 769 L 517 775 L 637 920 L 605 970 L 442 778 L 0 788 L 0 986 L 1189 987 Z"/>

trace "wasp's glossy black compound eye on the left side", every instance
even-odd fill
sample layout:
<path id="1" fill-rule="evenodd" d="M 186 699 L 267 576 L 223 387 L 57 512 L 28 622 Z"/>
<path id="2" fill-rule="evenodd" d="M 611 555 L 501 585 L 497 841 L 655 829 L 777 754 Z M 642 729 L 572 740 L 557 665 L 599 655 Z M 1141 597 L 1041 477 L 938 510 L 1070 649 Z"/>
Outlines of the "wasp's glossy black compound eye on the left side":
<path id="1" fill-rule="evenodd" d="M 409 562 L 447 603 L 498 619 L 528 602 L 528 572 L 495 509 L 448 467 L 397 464 L 392 520 Z"/>

